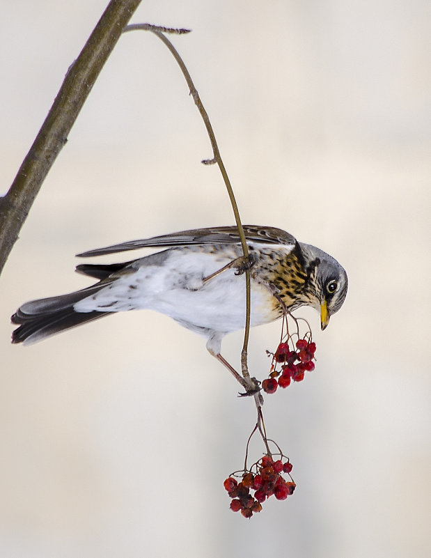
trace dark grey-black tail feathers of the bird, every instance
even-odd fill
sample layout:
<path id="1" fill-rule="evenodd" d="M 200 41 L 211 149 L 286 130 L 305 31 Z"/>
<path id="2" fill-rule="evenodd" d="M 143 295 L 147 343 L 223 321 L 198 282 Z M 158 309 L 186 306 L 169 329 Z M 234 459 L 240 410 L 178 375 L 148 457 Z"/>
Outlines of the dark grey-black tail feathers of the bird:
<path id="1" fill-rule="evenodd" d="M 12 316 L 12 323 L 19 327 L 12 334 L 13 343 L 31 345 L 46 337 L 60 333 L 77 325 L 102 318 L 110 312 L 76 312 L 74 305 L 104 288 L 106 282 L 77 290 L 75 293 L 58 297 L 42 298 L 22 304 Z"/>

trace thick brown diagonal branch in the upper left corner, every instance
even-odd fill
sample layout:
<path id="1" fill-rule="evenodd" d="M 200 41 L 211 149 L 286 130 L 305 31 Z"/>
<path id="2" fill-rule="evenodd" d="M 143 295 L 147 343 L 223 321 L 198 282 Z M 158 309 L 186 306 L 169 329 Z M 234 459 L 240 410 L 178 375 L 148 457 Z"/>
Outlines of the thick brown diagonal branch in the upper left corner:
<path id="1" fill-rule="evenodd" d="M 68 140 L 88 94 L 141 0 L 111 0 L 72 63 L 8 193 L 0 197 L 0 274 L 43 180 Z"/>

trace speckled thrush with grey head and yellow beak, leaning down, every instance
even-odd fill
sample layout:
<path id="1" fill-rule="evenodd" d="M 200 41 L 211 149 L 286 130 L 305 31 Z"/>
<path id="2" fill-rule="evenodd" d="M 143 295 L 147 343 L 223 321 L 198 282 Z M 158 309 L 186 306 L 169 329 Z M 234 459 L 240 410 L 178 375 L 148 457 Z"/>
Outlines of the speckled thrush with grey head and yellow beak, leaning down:
<path id="1" fill-rule="evenodd" d="M 98 279 L 74 293 L 22 304 L 11 321 L 13 343 L 30 345 L 71 327 L 119 311 L 152 309 L 207 339 L 221 362 L 221 340 L 244 328 L 250 270 L 251 327 L 270 323 L 283 312 L 310 306 L 320 312 L 324 330 L 343 305 L 347 274 L 329 254 L 298 242 L 280 228 L 243 227 L 248 260 L 237 226 L 180 231 L 94 249 L 80 257 L 104 256 L 140 248 L 165 248 L 113 264 L 80 264 L 76 271 Z M 230 366 L 230 365 L 228 365 Z"/>

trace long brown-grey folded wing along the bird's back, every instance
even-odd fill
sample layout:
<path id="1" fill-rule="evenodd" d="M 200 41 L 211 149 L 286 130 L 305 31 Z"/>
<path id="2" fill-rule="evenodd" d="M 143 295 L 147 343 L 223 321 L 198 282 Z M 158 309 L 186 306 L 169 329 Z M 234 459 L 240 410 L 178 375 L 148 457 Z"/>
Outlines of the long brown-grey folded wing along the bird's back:
<path id="1" fill-rule="evenodd" d="M 244 234 L 246 240 L 253 243 L 265 245 L 295 245 L 295 238 L 282 231 L 281 228 L 272 226 L 256 226 L 244 225 Z M 195 228 L 191 231 L 180 231 L 169 235 L 153 236 L 152 238 L 143 238 L 142 240 L 130 240 L 107 246 L 106 248 L 97 248 L 77 254 L 81 258 L 89 256 L 104 256 L 105 254 L 115 254 L 127 250 L 136 250 L 139 248 L 152 247 L 174 247 L 174 246 L 190 246 L 205 244 L 237 244 L 240 242 L 240 235 L 236 226 L 214 226 L 210 228 Z"/>

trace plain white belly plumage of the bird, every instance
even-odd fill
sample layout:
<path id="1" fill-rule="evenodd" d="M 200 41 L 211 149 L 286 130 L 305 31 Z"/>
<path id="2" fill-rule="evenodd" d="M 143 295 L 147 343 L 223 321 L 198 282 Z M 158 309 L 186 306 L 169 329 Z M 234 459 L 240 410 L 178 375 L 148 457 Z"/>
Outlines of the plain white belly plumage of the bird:
<path id="1" fill-rule="evenodd" d="M 234 251 L 235 250 L 235 251 Z M 203 279 L 237 257 L 237 249 L 211 254 L 197 249 L 171 249 L 163 265 L 147 265 L 125 274 L 95 295 L 75 304 L 75 310 L 125 311 L 152 309 L 182 323 L 219 332 L 232 332 L 245 323 L 245 275 L 222 272 L 207 283 Z M 252 281 L 251 325 L 267 323 L 272 295 Z"/>

